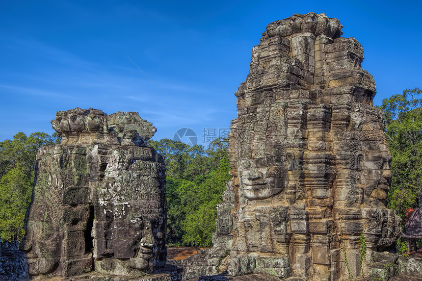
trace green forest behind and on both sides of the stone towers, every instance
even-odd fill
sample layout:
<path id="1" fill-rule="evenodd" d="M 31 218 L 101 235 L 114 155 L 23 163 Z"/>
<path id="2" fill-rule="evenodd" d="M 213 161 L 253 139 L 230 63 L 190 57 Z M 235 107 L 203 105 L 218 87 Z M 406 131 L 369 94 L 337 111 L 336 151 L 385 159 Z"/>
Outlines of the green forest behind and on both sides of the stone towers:
<path id="1" fill-rule="evenodd" d="M 422 90 L 406 89 L 384 99 L 379 107 L 392 154 L 392 182 L 388 207 L 403 219 L 422 192 Z M 54 133 L 18 132 L 0 142 L 0 238 L 21 240 L 24 218 L 34 182 L 35 155 L 46 145 L 60 142 Z M 150 140 L 164 156 L 167 179 L 169 245 L 211 246 L 216 204 L 221 202 L 229 175 L 228 140 L 217 138 L 207 148 L 170 139 Z M 421 202 L 422 203 L 422 202 Z M 402 220 L 402 224 L 404 220 Z"/>

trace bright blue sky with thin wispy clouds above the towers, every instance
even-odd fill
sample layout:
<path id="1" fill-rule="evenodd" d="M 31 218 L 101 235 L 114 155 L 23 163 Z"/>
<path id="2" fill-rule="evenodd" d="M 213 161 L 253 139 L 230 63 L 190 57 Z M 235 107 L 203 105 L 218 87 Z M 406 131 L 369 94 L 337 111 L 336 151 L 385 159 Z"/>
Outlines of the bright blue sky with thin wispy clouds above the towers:
<path id="1" fill-rule="evenodd" d="M 420 87 L 419 1 L 0 1 L 0 141 L 52 133 L 55 112 L 138 111 L 154 139 L 228 128 L 265 27 L 294 13 L 338 18 L 364 47 L 375 104 Z M 137 69 L 128 57 L 176 103 Z M 187 115 L 187 117 L 185 116 Z"/>

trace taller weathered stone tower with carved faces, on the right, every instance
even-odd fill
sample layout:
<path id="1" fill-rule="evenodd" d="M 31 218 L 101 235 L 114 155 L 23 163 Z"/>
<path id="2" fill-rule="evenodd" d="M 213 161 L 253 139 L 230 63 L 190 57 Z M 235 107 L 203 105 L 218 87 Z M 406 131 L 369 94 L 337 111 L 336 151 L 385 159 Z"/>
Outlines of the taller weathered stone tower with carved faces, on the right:
<path id="1" fill-rule="evenodd" d="M 391 155 L 375 82 L 342 27 L 295 14 L 269 24 L 252 49 L 229 134 L 233 179 L 213 247 L 185 260 L 185 279 L 349 280 L 394 248 L 400 219 L 386 207 Z"/>

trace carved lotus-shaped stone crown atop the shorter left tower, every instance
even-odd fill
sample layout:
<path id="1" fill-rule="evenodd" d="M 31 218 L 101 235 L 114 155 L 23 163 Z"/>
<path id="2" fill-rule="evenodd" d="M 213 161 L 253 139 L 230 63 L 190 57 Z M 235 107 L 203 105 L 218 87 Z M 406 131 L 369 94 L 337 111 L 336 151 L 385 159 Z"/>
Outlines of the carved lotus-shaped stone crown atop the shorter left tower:
<path id="1" fill-rule="evenodd" d="M 138 112 L 119 111 L 107 115 L 94 108 L 58 111 L 51 123 L 62 138 L 62 145 L 146 146 L 157 131 L 152 123 L 140 118 Z"/>

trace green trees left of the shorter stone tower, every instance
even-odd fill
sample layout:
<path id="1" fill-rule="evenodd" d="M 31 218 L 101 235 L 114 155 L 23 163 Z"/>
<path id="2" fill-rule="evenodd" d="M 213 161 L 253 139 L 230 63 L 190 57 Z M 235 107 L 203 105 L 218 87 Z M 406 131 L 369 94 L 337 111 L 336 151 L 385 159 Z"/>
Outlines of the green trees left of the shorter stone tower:
<path id="1" fill-rule="evenodd" d="M 59 142 L 56 134 L 23 132 L 0 142 L 0 237 L 20 240 L 34 182 L 37 150 Z"/>

